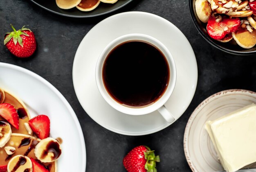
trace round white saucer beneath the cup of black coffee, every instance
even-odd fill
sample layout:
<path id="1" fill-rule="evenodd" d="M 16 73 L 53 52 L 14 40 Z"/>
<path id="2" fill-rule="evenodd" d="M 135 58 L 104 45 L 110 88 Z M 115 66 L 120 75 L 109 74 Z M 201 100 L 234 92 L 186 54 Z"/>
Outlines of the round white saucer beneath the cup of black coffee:
<path id="1" fill-rule="evenodd" d="M 126 12 L 99 22 L 85 35 L 76 51 L 73 83 L 76 96 L 90 117 L 110 131 L 124 135 L 146 135 L 168 124 L 157 112 L 126 115 L 113 109 L 103 99 L 95 81 L 99 54 L 107 44 L 121 35 L 142 33 L 155 37 L 171 52 L 177 67 L 177 82 L 165 106 L 177 120 L 189 106 L 197 85 L 195 54 L 182 32 L 162 17 L 145 12 Z"/>

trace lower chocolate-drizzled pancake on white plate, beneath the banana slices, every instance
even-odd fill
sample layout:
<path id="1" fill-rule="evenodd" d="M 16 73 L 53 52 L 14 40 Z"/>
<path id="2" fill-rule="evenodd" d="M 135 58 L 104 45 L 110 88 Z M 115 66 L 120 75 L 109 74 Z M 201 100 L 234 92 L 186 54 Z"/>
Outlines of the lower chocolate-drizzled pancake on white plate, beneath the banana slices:
<path id="1" fill-rule="evenodd" d="M 18 134 L 13 133 L 11 135 L 11 139 L 5 146 L 12 146 L 16 148 L 16 151 L 13 153 L 13 155 L 7 155 L 7 153 L 3 148 L 0 148 L 0 166 L 1 165 L 7 165 L 9 160 L 16 156 L 16 155 L 25 155 L 29 158 L 36 159 L 36 156 L 34 154 L 34 148 L 36 144 L 38 144 L 41 140 L 33 137 L 31 135 L 25 135 L 25 134 Z M 57 172 L 57 162 L 54 161 L 52 163 L 43 163 L 47 168 L 49 168 L 49 172 Z"/>

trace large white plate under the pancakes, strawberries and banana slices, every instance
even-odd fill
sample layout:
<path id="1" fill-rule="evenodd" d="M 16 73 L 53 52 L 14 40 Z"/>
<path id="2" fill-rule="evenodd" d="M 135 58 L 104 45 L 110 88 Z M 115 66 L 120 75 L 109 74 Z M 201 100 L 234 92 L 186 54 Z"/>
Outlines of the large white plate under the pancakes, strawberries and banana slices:
<path id="1" fill-rule="evenodd" d="M 0 87 L 27 105 L 31 118 L 45 114 L 51 121 L 51 137 L 61 137 L 58 172 L 85 172 L 83 132 L 76 114 L 62 94 L 37 74 L 16 65 L 0 63 Z"/>

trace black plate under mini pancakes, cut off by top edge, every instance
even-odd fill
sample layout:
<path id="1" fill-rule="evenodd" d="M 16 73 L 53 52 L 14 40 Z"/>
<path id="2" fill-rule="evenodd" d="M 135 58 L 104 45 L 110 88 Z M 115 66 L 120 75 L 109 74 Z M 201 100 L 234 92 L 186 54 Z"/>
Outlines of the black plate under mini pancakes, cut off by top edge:
<path id="1" fill-rule="evenodd" d="M 46 9 L 58 15 L 64 15 L 68 17 L 94 17 L 99 15 L 104 15 L 112 11 L 115 11 L 117 9 L 120 9 L 121 7 L 124 7 L 126 4 L 130 3 L 132 0 L 118 0 L 115 4 L 106 4 L 101 2 L 96 9 L 88 12 L 80 11 L 79 9 L 76 9 L 76 7 L 68 10 L 60 9 L 56 5 L 55 0 L 31 0 L 31 1 L 37 4 L 38 6 L 42 7 L 43 9 Z"/>

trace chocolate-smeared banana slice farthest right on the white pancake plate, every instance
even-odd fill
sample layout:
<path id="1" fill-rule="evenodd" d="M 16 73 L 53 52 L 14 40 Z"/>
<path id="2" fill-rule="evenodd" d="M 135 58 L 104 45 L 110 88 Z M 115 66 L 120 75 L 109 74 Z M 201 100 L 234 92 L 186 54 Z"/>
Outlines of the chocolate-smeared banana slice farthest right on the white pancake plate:
<path id="1" fill-rule="evenodd" d="M 61 155 L 61 146 L 57 140 L 48 137 L 36 145 L 35 155 L 44 163 L 56 161 Z"/>

